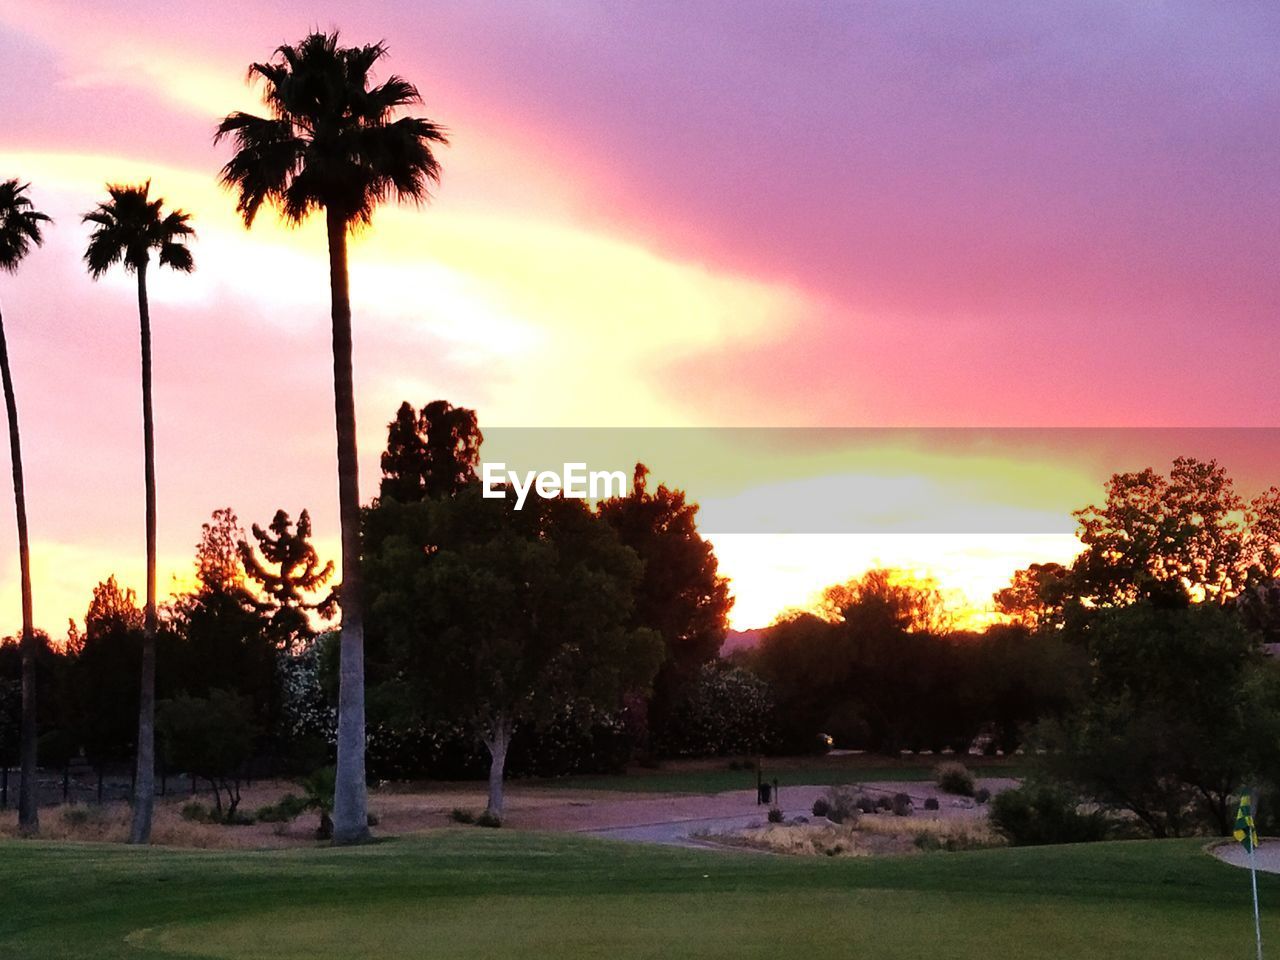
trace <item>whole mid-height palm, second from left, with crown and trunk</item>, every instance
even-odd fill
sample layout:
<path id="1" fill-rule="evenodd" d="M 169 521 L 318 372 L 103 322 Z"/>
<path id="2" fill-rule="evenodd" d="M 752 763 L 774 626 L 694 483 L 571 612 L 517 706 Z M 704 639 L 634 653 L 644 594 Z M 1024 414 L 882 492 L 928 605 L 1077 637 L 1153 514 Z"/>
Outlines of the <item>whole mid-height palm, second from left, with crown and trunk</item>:
<path id="1" fill-rule="evenodd" d="M 147 500 L 147 605 L 142 621 L 142 685 L 138 695 L 137 776 L 133 782 L 131 844 L 151 840 L 155 806 L 156 735 L 156 463 L 151 417 L 151 310 L 147 306 L 147 265 L 155 253 L 160 266 L 182 273 L 196 269 L 187 242 L 195 237 L 182 210 L 164 212 L 164 200 L 152 200 L 151 180 L 137 187 L 108 184 L 110 198 L 84 214 L 93 232 L 84 265 L 96 280 L 122 264 L 138 278 L 138 321 L 142 330 L 142 448 Z"/>

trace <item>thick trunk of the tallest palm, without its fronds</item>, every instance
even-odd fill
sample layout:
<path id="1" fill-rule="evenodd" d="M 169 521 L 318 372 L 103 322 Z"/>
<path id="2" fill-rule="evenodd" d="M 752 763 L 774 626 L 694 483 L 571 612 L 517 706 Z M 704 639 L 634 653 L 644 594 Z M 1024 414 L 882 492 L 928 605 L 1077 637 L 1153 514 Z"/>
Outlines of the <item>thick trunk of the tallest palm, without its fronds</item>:
<path id="1" fill-rule="evenodd" d="M 369 837 L 365 790 L 365 608 L 360 570 L 360 465 L 356 397 L 351 374 L 351 296 L 347 287 L 347 221 L 326 212 L 329 289 L 333 297 L 333 394 L 338 425 L 338 516 L 342 524 L 342 639 L 338 672 L 338 768 L 333 841 Z"/>

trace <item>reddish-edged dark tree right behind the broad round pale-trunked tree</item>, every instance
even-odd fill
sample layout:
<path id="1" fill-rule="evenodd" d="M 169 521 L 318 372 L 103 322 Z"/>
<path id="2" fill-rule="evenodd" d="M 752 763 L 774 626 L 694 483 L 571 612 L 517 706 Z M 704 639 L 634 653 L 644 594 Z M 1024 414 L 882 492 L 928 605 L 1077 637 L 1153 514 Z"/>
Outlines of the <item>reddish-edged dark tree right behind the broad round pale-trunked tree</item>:
<path id="1" fill-rule="evenodd" d="M 698 532 L 698 504 L 664 484 L 650 492 L 649 470 L 636 463 L 631 494 L 603 500 L 600 517 L 644 562 L 634 623 L 663 639 L 662 668 L 649 701 L 649 730 L 659 746 L 678 740 L 681 701 L 699 671 L 716 659 L 728 630 L 733 598 L 712 545 Z"/>

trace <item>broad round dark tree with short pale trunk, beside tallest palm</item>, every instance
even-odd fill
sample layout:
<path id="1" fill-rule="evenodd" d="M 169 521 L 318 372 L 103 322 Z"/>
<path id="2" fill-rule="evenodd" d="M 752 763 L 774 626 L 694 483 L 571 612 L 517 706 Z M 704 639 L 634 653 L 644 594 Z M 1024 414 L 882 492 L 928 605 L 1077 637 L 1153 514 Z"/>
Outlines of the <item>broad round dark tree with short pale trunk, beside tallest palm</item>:
<path id="1" fill-rule="evenodd" d="M 369 556 L 372 627 L 419 701 L 485 744 L 492 815 L 517 724 L 616 709 L 652 681 L 662 641 L 631 621 L 640 561 L 580 500 L 516 511 L 472 486 L 387 500 L 369 522 L 384 532 Z"/>

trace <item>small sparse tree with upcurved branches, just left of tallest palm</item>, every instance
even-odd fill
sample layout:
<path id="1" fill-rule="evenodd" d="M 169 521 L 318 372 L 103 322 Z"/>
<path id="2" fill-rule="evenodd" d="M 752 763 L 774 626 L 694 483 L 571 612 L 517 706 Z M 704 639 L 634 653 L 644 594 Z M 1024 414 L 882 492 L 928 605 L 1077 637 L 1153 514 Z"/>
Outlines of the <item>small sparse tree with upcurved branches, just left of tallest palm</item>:
<path id="1" fill-rule="evenodd" d="M 308 603 L 305 594 L 319 590 L 329 581 L 333 561 L 320 564 L 320 554 L 311 544 L 311 515 L 306 511 L 298 515 L 297 527 L 288 513 L 278 509 L 266 530 L 257 524 L 251 529 L 262 561 L 241 536 L 237 543 L 241 562 L 275 607 L 271 626 L 282 648 L 297 652 L 312 636 L 307 611 L 317 609 L 326 614 L 330 607 L 329 599 Z M 276 570 L 273 572 L 266 564 Z"/>

